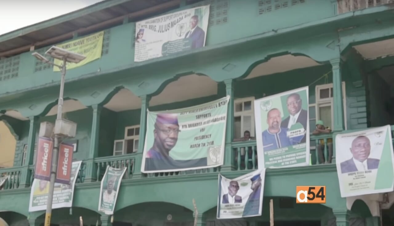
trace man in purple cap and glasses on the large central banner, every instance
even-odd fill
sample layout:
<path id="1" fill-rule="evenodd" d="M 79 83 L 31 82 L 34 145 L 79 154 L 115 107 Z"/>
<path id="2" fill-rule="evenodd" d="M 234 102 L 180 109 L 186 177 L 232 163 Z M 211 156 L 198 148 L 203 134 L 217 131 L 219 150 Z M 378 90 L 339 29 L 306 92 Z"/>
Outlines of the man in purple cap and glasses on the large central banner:
<path id="1" fill-rule="evenodd" d="M 170 151 L 175 147 L 180 133 L 178 115 L 159 113 L 154 124 L 153 146 L 145 155 L 145 170 L 170 170 L 207 165 L 207 158 L 174 160 Z"/>

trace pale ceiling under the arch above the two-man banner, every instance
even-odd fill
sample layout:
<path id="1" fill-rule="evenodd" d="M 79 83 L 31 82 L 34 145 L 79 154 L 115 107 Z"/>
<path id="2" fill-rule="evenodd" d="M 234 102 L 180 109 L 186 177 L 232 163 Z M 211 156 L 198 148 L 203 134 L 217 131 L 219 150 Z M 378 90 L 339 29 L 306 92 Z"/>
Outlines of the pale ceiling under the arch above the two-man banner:
<path id="1" fill-rule="evenodd" d="M 267 62 L 257 65 L 245 79 L 317 65 L 321 64 L 307 56 L 293 56 L 290 54 L 277 56 L 269 59 Z"/>

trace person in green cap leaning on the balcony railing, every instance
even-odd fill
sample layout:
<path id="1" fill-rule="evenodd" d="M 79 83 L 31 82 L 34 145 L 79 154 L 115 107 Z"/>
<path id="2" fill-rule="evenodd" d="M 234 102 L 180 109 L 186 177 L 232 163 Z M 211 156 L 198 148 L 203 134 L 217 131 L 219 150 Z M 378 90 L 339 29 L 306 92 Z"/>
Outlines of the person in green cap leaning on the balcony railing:
<path id="1" fill-rule="evenodd" d="M 331 133 L 330 127 L 325 127 L 324 122 L 322 120 L 316 121 L 316 129 L 312 132 L 314 135 L 318 134 L 327 134 Z M 319 140 L 319 144 L 316 144 L 316 151 L 318 151 L 319 155 L 319 163 L 324 164 L 325 161 L 325 156 L 324 156 L 324 139 Z M 333 139 L 328 138 L 327 139 L 327 148 L 328 148 L 328 161 L 327 163 L 331 163 L 331 160 L 333 158 Z"/>

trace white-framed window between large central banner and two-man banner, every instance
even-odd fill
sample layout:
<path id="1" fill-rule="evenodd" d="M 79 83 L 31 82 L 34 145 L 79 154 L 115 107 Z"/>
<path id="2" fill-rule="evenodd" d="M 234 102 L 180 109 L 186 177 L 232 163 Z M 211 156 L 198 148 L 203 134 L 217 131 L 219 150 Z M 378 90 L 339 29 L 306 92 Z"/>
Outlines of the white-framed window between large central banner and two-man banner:
<path id="1" fill-rule="evenodd" d="M 255 136 L 255 97 L 247 97 L 234 100 L 234 138 L 243 137 L 245 131 Z"/>

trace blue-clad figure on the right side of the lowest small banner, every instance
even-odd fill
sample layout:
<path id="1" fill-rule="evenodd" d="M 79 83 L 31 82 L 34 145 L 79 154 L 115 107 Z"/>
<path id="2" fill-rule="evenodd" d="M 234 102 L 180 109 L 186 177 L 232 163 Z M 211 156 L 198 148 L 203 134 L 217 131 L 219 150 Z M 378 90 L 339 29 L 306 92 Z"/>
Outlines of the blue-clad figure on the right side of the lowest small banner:
<path id="1" fill-rule="evenodd" d="M 260 174 L 253 176 L 251 181 L 252 185 L 250 188 L 253 191 L 249 195 L 249 198 L 245 204 L 242 217 L 258 215 L 258 211 L 260 210 L 260 195 L 262 186 Z"/>

